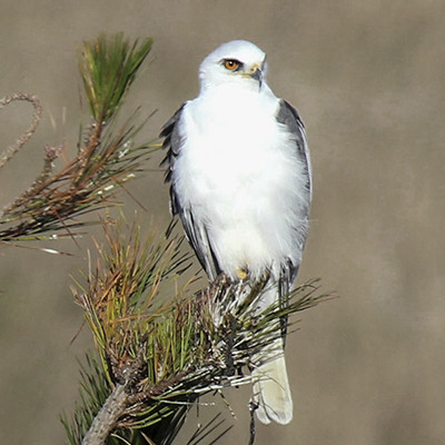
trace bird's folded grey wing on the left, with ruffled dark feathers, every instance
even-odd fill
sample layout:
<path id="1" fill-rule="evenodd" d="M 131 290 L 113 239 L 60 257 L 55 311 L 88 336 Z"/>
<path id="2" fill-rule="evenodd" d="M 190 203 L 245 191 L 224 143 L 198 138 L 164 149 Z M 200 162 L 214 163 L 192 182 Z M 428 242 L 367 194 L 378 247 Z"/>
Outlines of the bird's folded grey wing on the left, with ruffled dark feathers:
<path id="1" fill-rule="evenodd" d="M 171 214 L 174 216 L 179 215 L 187 235 L 187 239 L 194 248 L 199 263 L 206 270 L 209 278 L 214 280 L 221 273 L 221 269 L 211 248 L 207 229 L 201 222 L 196 220 L 191 208 L 186 208 L 182 206 L 180 196 L 178 195 L 175 185 L 175 164 L 178 156 L 180 156 L 180 151 L 186 138 L 185 135 L 181 135 L 179 125 L 185 105 L 186 103 L 184 103 L 162 127 L 160 137 L 165 138 L 162 149 L 167 150 L 167 155 L 160 166 L 167 167 L 166 182 L 170 182 Z"/>

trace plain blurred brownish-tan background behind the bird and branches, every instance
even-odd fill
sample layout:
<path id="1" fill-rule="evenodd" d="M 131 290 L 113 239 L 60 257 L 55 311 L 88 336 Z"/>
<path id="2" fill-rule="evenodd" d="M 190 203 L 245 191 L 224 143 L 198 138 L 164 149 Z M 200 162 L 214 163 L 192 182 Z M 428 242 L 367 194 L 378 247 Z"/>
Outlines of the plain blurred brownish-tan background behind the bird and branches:
<path id="1" fill-rule="evenodd" d="M 31 142 L 0 172 L 1 206 L 37 176 L 46 144 L 76 149 L 82 40 L 102 31 L 155 39 L 126 108 L 157 110 L 147 139 L 197 95 L 198 66 L 217 46 L 241 38 L 265 50 L 268 82 L 299 109 L 312 148 L 315 196 L 299 281 L 322 277 L 340 298 L 301 315 L 287 343 L 294 422 L 258 425 L 256 444 L 445 443 L 442 0 L 2 0 L 0 11 L 0 96 L 31 92 L 44 107 Z M 0 147 L 27 128 L 30 108 L 1 110 Z M 130 189 L 148 209 L 138 209 L 147 225 L 164 227 L 162 174 Z M 126 212 L 137 207 L 128 201 Z M 59 414 L 71 413 L 77 360 L 91 347 L 87 329 L 71 344 L 82 314 L 69 289 L 70 275 L 87 269 L 91 241 L 44 246 L 72 256 L 0 250 L 4 444 L 65 442 Z M 235 424 L 220 444 L 248 442 L 248 395 L 227 392 L 236 419 L 220 400 L 205 408 Z"/>

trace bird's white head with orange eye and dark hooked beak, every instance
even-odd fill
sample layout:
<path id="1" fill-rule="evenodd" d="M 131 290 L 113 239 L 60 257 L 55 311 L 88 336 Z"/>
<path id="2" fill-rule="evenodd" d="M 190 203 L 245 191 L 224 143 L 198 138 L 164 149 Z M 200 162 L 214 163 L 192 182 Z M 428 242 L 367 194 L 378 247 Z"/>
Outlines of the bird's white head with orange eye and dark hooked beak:
<path id="1" fill-rule="evenodd" d="M 224 83 L 244 85 L 259 90 L 266 69 L 265 52 L 249 41 L 233 40 L 204 59 L 199 68 L 201 90 Z"/>

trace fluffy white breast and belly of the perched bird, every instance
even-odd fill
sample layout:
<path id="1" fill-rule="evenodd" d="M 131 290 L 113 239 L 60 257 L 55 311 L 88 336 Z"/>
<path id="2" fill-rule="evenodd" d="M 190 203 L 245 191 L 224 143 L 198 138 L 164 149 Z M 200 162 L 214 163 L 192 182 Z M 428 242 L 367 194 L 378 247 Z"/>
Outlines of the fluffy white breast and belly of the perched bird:
<path id="1" fill-rule="evenodd" d="M 276 119 L 278 99 L 220 88 L 187 103 L 185 137 L 174 181 L 182 207 L 205 225 L 224 271 L 247 266 L 279 273 L 286 258 L 299 263 L 299 202 L 304 166 L 286 127 Z"/>

